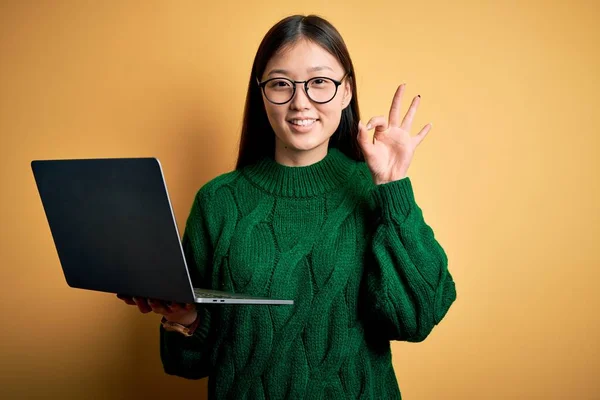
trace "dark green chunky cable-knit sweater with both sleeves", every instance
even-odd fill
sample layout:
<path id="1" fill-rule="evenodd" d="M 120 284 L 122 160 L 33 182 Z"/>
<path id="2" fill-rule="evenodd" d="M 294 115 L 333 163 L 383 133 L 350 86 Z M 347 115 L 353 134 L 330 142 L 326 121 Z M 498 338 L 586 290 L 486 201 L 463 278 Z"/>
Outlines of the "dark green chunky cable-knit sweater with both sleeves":
<path id="1" fill-rule="evenodd" d="M 399 399 L 390 340 L 422 341 L 456 298 L 410 179 L 375 186 L 336 149 L 210 181 L 183 244 L 195 285 L 295 302 L 198 305 L 193 336 L 160 328 L 165 372 L 208 376 L 211 399 Z"/>

